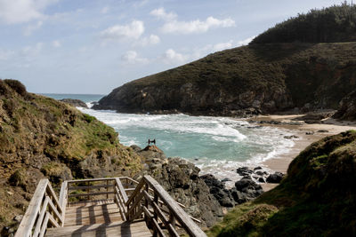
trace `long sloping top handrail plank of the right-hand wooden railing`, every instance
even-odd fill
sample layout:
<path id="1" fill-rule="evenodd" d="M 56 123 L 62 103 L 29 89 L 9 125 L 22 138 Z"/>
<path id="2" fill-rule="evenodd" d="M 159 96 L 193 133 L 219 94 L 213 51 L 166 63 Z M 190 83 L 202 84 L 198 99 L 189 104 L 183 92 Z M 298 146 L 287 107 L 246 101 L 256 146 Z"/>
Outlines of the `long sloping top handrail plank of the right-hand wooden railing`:
<path id="1" fill-rule="evenodd" d="M 188 214 L 174 201 L 174 199 L 166 192 L 166 190 L 158 184 L 158 182 L 148 175 L 143 177 L 145 181 L 157 192 L 162 201 L 166 203 L 167 208 L 177 218 L 184 230 L 190 234 L 190 236 L 206 236 L 198 225 L 188 216 Z"/>

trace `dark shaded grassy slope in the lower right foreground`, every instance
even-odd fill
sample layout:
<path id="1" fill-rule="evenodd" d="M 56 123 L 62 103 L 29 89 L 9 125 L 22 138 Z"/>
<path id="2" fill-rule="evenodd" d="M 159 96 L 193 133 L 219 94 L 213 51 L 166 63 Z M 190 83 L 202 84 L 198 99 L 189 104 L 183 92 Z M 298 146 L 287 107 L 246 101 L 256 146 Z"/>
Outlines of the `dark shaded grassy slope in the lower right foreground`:
<path id="1" fill-rule="evenodd" d="M 323 138 L 289 165 L 279 186 L 240 205 L 210 236 L 355 236 L 356 131 Z"/>

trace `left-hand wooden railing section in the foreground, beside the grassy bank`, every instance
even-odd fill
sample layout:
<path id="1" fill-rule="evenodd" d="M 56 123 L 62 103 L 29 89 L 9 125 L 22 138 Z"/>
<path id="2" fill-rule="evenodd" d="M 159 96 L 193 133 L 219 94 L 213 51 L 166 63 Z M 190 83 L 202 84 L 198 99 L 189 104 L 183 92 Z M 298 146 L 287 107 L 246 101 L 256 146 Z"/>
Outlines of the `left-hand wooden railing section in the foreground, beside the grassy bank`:
<path id="1" fill-rule="evenodd" d="M 49 180 L 41 179 L 15 237 L 44 236 L 47 227 L 63 226 L 65 208 L 61 201 L 57 199 Z"/>

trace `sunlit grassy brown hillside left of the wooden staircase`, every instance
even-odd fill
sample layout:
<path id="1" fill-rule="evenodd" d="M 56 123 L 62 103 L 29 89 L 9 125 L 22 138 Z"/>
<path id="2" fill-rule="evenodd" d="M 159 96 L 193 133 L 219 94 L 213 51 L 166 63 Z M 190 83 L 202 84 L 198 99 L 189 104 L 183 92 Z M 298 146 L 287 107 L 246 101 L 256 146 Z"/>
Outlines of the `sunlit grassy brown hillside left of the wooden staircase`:
<path id="1" fill-rule="evenodd" d="M 117 132 L 75 107 L 0 80 L 0 231 L 15 226 L 40 178 L 133 175 L 142 159 Z M 6 236 L 3 230 L 1 236 Z"/>

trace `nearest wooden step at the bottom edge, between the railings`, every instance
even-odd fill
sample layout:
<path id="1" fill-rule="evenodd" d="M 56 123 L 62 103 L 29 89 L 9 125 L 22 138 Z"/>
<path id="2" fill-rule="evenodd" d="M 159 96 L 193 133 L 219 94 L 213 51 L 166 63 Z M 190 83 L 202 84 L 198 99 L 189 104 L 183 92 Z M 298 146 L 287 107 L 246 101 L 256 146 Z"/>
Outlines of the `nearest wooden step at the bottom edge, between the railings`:
<path id="1" fill-rule="evenodd" d="M 114 222 L 110 224 L 74 225 L 60 228 L 49 228 L 44 236 L 47 237 L 118 237 L 118 236 L 152 236 L 146 223 L 142 220 Z"/>

